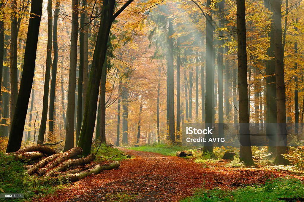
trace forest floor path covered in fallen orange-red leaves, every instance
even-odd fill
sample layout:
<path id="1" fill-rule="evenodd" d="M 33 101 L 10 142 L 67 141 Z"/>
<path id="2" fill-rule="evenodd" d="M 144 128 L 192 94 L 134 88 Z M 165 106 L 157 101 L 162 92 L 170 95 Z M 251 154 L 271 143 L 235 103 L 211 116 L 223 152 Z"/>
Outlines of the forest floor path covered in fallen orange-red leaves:
<path id="1" fill-rule="evenodd" d="M 135 158 L 115 170 L 86 177 L 55 194 L 34 201 L 178 201 L 194 188 L 233 189 L 263 184 L 276 177 L 299 177 L 269 168 L 231 168 L 226 162 L 195 163 L 191 159 L 122 149 Z"/>

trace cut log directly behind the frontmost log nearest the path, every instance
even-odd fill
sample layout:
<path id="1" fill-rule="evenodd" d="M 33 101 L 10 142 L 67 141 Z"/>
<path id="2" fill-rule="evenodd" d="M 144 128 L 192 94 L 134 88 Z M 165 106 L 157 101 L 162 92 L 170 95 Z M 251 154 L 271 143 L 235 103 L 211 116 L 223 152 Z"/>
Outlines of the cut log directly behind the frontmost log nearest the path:
<path id="1" fill-rule="evenodd" d="M 62 163 L 60 163 L 57 167 L 54 167 L 50 169 L 45 176 L 54 176 L 54 173 L 61 172 L 67 170 L 68 167 L 78 166 L 78 165 L 85 165 L 88 163 L 91 163 L 93 160 L 95 160 L 95 154 L 89 154 L 85 158 L 79 158 L 79 159 L 69 159 Z"/>

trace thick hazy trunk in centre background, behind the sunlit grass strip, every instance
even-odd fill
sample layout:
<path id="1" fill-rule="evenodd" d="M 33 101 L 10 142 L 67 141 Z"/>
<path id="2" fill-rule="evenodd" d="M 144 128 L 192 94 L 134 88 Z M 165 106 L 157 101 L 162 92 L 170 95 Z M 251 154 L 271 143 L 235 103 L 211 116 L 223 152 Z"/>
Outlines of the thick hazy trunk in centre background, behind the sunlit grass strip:
<path id="1" fill-rule="evenodd" d="M 175 116 L 174 116 L 174 65 L 173 65 L 173 25 L 169 19 L 169 32 L 168 32 L 168 107 L 169 107 L 169 140 L 175 144 Z"/>

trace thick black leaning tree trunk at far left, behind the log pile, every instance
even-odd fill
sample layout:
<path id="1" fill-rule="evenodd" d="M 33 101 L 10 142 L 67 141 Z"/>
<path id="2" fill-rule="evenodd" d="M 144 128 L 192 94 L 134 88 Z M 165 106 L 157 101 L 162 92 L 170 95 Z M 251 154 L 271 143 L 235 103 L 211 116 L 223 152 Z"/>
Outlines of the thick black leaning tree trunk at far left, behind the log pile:
<path id="1" fill-rule="evenodd" d="M 9 142 L 6 148 L 7 153 L 15 152 L 21 147 L 26 112 L 29 105 L 29 96 L 31 94 L 34 78 L 37 43 L 42 15 L 42 2 L 42 0 L 32 0 L 26 39 L 27 43 L 24 54 L 24 69 L 16 103 L 16 111 L 11 124 Z"/>

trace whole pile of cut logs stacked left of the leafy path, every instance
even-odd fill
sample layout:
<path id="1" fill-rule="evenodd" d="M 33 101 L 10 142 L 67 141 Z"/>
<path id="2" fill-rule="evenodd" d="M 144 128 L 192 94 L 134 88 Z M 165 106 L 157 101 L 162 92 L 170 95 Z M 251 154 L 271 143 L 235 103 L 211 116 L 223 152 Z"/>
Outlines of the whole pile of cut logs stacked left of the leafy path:
<path id="1" fill-rule="evenodd" d="M 56 153 L 48 146 L 30 146 L 20 149 L 12 155 L 16 160 L 24 160 L 30 165 L 26 166 L 26 173 L 29 175 L 44 177 L 44 182 L 50 178 L 52 182 L 75 182 L 82 178 L 97 173 L 102 170 L 118 168 L 120 163 L 113 161 L 110 164 L 96 165 L 95 154 L 89 154 L 86 157 L 79 158 L 82 154 L 81 147 L 74 147 L 64 153 Z"/>

